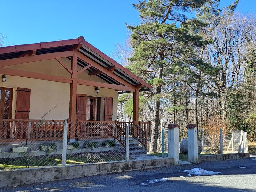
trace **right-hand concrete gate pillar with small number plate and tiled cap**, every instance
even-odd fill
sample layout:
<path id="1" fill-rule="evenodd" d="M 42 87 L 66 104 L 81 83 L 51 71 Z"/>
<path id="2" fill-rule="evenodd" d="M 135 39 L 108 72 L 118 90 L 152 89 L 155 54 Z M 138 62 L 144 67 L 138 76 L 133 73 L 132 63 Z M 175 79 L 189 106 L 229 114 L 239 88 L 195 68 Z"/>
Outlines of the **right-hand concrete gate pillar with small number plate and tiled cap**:
<path id="1" fill-rule="evenodd" d="M 188 161 L 198 163 L 197 125 L 188 124 Z"/>

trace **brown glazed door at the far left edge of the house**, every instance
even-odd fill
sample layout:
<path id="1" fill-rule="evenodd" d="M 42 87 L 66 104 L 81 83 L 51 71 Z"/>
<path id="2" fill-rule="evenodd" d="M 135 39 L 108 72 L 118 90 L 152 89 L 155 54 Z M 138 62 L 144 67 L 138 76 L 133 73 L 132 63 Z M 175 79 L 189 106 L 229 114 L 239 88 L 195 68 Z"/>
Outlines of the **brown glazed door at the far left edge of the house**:
<path id="1" fill-rule="evenodd" d="M 0 119 L 12 118 L 12 88 L 0 87 Z"/>

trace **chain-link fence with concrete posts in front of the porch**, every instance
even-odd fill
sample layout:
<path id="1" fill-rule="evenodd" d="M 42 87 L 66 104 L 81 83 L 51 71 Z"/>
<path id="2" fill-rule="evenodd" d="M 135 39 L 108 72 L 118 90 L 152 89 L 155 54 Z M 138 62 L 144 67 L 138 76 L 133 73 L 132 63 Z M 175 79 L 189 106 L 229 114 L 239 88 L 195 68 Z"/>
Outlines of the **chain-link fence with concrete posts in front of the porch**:
<path id="1" fill-rule="evenodd" d="M 144 159 L 150 123 L 0 119 L 0 170 Z"/>

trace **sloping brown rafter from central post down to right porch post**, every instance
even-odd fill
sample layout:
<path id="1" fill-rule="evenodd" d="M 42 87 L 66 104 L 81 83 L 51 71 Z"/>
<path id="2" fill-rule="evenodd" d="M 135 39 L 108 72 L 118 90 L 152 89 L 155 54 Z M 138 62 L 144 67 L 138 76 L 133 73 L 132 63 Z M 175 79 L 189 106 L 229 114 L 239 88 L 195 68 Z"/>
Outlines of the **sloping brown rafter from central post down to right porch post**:
<path id="1" fill-rule="evenodd" d="M 84 56 L 83 54 L 78 52 L 77 56 L 83 62 L 85 62 L 87 64 L 91 64 L 93 66 L 93 68 L 96 68 L 96 70 L 101 71 L 102 73 L 104 73 L 105 75 L 110 77 L 111 79 L 116 80 L 118 83 L 123 84 L 124 86 L 128 86 L 128 87 L 134 88 L 131 84 L 129 84 L 128 82 L 124 81 L 122 78 L 116 76 L 112 71 L 109 71 L 108 69 L 100 66 L 98 63 L 96 63 L 95 61 L 89 59 L 88 57 Z"/>

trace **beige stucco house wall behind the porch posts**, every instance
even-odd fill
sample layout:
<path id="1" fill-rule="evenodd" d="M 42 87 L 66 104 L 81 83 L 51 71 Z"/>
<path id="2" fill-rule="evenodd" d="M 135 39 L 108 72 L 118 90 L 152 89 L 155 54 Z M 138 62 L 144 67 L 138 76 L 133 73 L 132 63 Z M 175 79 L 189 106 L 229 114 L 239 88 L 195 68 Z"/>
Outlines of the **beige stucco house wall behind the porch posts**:
<path id="1" fill-rule="evenodd" d="M 66 58 L 61 58 L 61 60 L 70 68 L 70 60 Z M 8 66 L 6 68 L 70 77 L 70 74 L 56 60 L 31 62 Z M 78 70 L 79 69 L 81 69 L 80 66 L 78 66 Z M 3 75 L 1 74 L 1 71 L 0 75 Z M 9 75 L 6 75 L 6 77 L 7 81 L 4 84 L 1 82 L 0 87 L 13 88 L 12 118 L 15 118 L 14 111 L 16 108 L 17 87 L 31 89 L 30 119 L 41 119 L 45 113 L 50 111 L 56 105 L 57 106 L 51 112 L 44 116 L 44 119 L 68 118 L 70 84 Z M 87 70 L 79 74 L 78 78 L 106 83 L 97 76 L 89 76 Z M 100 92 L 97 94 L 95 92 L 95 87 L 78 85 L 77 93 L 101 97 L 101 120 L 103 120 L 104 96 L 113 97 L 113 120 L 117 119 L 117 91 L 105 88 L 99 89 Z"/>

